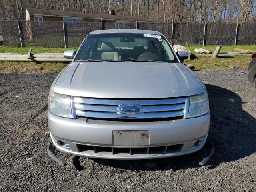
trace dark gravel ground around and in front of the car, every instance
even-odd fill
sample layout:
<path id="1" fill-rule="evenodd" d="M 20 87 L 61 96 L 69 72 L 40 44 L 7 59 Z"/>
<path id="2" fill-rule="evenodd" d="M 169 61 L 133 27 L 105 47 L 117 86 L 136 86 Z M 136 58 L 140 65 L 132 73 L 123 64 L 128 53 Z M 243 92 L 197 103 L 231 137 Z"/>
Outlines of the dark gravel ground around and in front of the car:
<path id="1" fill-rule="evenodd" d="M 48 157 L 48 91 L 56 74 L 0 74 L 0 191 L 256 191 L 256 90 L 246 71 L 200 71 L 212 114 L 208 148 L 157 160 Z M 19 97 L 16 97 L 19 96 Z"/>

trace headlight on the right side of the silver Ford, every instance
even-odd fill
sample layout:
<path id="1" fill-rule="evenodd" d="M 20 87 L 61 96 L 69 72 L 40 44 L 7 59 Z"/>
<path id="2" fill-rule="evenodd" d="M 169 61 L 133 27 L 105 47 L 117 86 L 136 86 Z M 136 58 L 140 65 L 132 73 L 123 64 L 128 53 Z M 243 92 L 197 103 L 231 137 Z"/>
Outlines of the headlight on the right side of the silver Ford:
<path id="1" fill-rule="evenodd" d="M 188 118 L 202 116 L 209 111 L 207 92 L 190 97 Z"/>

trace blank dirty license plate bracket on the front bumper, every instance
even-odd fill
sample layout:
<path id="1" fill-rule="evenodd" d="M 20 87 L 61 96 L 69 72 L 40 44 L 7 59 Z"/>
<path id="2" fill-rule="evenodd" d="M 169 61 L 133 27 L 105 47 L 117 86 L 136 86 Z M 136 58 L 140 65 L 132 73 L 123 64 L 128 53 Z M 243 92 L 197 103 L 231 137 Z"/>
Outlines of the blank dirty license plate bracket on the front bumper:
<path id="1" fill-rule="evenodd" d="M 150 144 L 149 131 L 113 131 L 115 146 L 147 146 Z"/>

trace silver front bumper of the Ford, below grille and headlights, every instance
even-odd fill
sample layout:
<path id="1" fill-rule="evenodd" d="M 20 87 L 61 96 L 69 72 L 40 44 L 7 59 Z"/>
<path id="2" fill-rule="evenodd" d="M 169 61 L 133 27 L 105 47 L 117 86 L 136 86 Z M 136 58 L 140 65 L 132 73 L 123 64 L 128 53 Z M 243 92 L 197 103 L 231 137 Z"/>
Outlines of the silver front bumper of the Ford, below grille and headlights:
<path id="1" fill-rule="evenodd" d="M 210 112 L 198 118 L 158 122 L 68 119 L 48 112 L 48 126 L 56 148 L 69 154 L 107 159 L 164 158 L 200 150 L 208 136 Z M 149 144 L 115 145 L 113 132 L 127 130 L 148 131 Z M 195 146 L 197 140 L 200 143 Z"/>

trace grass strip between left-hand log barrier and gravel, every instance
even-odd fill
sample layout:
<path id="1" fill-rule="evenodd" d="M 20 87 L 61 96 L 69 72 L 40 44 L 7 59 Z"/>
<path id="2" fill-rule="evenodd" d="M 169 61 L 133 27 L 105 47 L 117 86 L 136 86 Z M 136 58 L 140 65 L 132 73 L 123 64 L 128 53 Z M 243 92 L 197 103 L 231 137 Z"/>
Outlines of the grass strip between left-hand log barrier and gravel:
<path id="1" fill-rule="evenodd" d="M 66 63 L 43 62 L 10 62 L 0 61 L 0 73 L 59 73 Z"/>

